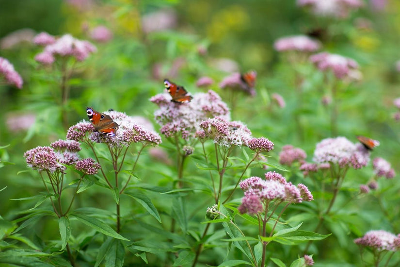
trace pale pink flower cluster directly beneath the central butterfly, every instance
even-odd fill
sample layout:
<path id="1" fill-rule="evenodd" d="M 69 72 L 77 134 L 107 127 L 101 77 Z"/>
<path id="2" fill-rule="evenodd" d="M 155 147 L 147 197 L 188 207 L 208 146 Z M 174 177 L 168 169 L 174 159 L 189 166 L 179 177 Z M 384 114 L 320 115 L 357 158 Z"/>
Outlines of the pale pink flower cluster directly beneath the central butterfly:
<path id="1" fill-rule="evenodd" d="M 150 99 L 160 108 L 154 112 L 161 126 L 161 133 L 167 137 L 179 134 L 183 139 L 195 137 L 200 130 L 200 122 L 209 117 L 219 116 L 229 120 L 230 113 L 226 103 L 212 90 L 193 95 L 189 103 L 175 103 L 167 93 L 158 94 Z"/>

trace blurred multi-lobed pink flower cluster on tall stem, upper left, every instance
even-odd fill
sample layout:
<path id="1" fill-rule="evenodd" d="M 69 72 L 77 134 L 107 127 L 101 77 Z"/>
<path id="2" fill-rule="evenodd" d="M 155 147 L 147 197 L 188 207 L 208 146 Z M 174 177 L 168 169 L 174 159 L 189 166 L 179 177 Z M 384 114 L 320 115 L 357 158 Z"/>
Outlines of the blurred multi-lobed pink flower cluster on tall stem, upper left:
<path id="1" fill-rule="evenodd" d="M 56 56 L 74 57 L 78 61 L 85 60 L 91 53 L 96 52 L 96 47 L 88 42 L 74 38 L 71 34 L 64 34 L 58 39 L 51 38 L 48 33 L 39 33 L 34 42 L 46 45 L 43 52 L 35 56 L 35 60 L 43 65 L 51 65 L 56 60 Z"/>

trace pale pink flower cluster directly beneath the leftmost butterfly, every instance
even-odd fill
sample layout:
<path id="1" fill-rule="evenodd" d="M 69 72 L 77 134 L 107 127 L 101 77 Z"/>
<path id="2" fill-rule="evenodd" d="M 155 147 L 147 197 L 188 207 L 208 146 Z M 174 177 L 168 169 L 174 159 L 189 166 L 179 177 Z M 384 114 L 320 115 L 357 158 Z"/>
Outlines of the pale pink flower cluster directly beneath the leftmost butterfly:
<path id="1" fill-rule="evenodd" d="M 92 133 L 89 138 L 96 143 L 107 143 L 112 147 L 125 147 L 132 143 L 159 145 L 161 137 L 154 131 L 147 130 L 144 125 L 138 124 L 132 117 L 115 110 L 103 112 L 109 115 L 119 127 L 115 136 L 109 137 L 99 132 Z"/>

